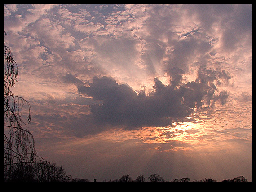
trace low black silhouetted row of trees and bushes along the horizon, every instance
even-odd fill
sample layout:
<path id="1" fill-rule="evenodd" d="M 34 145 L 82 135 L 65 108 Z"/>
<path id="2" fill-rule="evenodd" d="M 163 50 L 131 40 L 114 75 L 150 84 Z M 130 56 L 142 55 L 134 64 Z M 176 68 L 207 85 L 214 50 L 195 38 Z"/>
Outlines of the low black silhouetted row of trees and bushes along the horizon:
<path id="1" fill-rule="evenodd" d="M 65 170 L 62 166 L 57 166 L 56 164 L 17 164 L 13 172 L 9 175 L 4 175 L 4 182 L 76 182 L 76 183 L 87 183 L 91 182 L 88 179 L 73 179 L 70 175 L 66 175 Z M 152 174 L 147 177 L 150 182 L 172 182 L 172 183 L 186 183 L 186 182 L 218 182 L 216 179 L 204 178 L 202 180 L 190 181 L 190 178 L 183 177 L 181 179 L 173 179 L 171 181 L 166 181 L 158 174 Z M 93 182 L 97 182 L 97 179 L 94 179 Z M 103 180 L 100 182 L 116 182 L 116 183 L 127 183 L 127 182 L 146 182 L 144 175 L 139 175 L 137 179 L 133 180 L 132 177 L 127 175 L 122 175 L 119 179 L 114 180 Z M 224 179 L 219 182 L 247 182 L 243 176 L 234 177 L 233 179 Z"/>

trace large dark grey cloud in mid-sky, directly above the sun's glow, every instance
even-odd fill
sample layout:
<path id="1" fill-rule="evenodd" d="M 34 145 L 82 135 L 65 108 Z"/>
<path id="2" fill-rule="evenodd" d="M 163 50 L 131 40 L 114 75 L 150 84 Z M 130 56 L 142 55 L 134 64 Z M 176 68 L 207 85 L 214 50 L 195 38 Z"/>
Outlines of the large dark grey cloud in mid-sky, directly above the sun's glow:
<path id="1" fill-rule="evenodd" d="M 139 94 L 127 84 L 118 84 L 111 77 L 94 77 L 89 87 L 80 86 L 78 91 L 92 97 L 101 104 L 90 105 L 95 123 L 111 126 L 121 125 L 126 128 L 143 126 L 168 126 L 172 122 L 182 122 L 186 116 L 210 101 L 221 100 L 225 103 L 226 92 L 215 96 L 213 81 L 221 72 L 201 70 L 196 81 L 164 85 L 158 78 L 154 79 L 154 91 L 146 95 Z M 212 76 L 211 76 L 212 74 Z M 223 78 L 222 78 L 223 79 Z"/>

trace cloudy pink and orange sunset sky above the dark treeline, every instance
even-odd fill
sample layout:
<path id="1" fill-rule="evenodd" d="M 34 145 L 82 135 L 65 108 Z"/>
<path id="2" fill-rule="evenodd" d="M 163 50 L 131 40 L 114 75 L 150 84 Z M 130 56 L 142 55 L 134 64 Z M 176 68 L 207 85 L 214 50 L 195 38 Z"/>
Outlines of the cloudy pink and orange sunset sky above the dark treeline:
<path id="1" fill-rule="evenodd" d="M 4 30 L 66 174 L 252 181 L 252 4 L 4 4 Z"/>

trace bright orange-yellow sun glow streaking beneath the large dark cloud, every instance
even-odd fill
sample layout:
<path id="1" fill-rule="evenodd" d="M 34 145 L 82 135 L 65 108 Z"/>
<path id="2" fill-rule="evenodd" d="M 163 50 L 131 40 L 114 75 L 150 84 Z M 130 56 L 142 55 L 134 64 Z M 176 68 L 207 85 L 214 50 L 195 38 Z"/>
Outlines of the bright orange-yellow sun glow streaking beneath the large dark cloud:
<path id="1" fill-rule="evenodd" d="M 202 129 L 203 124 L 199 122 L 175 122 L 172 126 L 166 127 L 142 127 L 138 130 L 113 129 L 97 136 L 116 142 L 141 140 L 145 144 L 163 144 L 172 141 L 190 143 L 202 135 Z"/>

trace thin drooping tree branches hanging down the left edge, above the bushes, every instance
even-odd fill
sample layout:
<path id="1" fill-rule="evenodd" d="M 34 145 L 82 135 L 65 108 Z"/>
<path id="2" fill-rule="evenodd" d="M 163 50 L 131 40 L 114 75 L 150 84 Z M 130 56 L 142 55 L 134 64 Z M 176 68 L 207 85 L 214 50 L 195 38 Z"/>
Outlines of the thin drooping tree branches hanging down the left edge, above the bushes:
<path id="1" fill-rule="evenodd" d="M 7 35 L 4 31 L 4 36 Z M 4 42 L 4 178 L 13 171 L 13 165 L 35 162 L 35 143 L 30 131 L 23 128 L 20 108 L 28 106 L 27 122 L 30 123 L 30 105 L 22 97 L 15 96 L 11 87 L 18 81 L 18 66 L 12 52 Z M 15 167 L 17 169 L 17 167 Z"/>

